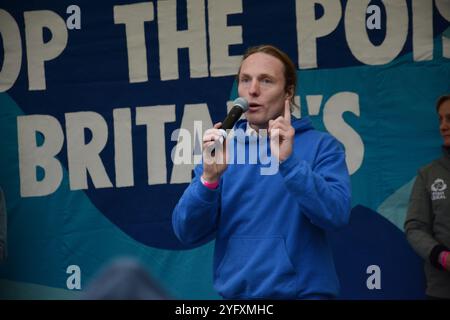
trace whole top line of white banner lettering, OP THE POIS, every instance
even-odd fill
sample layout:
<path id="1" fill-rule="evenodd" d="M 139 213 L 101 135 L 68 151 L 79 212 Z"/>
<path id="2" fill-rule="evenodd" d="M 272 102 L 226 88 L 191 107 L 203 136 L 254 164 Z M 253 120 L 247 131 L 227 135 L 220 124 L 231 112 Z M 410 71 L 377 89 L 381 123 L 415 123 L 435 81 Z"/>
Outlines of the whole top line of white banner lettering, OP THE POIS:
<path id="1" fill-rule="evenodd" d="M 154 3 L 158 21 L 154 21 Z M 176 1 L 141 2 L 113 7 L 114 23 L 125 25 L 130 83 L 148 81 L 145 41 L 147 35 L 144 28 L 146 22 L 158 24 L 158 28 L 152 30 L 157 29 L 159 32 L 158 67 L 162 81 L 179 78 L 180 48 L 189 50 L 191 78 L 227 76 L 237 72 L 241 56 L 230 56 L 229 46 L 243 43 L 243 30 L 242 26 L 228 26 L 227 16 L 244 13 L 242 0 L 190 0 L 186 3 L 186 30 L 177 29 Z M 295 0 L 299 68 L 319 67 L 317 41 L 331 35 L 343 15 L 347 45 L 356 59 L 367 65 L 380 65 L 398 57 L 408 38 L 408 7 L 405 0 L 383 0 L 382 3 L 386 12 L 386 25 L 381 26 L 381 29 L 383 27 L 386 29 L 386 36 L 380 45 L 373 45 L 367 29 L 379 29 L 380 14 L 379 10 L 373 10 L 378 6 L 369 5 L 370 0 L 348 0 L 345 12 L 340 0 Z M 412 0 L 411 3 L 413 60 L 430 60 L 433 58 L 434 49 L 433 2 Z M 450 21 L 450 0 L 435 0 L 434 3 L 437 14 Z M 318 18 L 315 14 L 317 5 L 323 10 L 323 15 Z M 29 90 L 46 90 L 45 62 L 55 59 L 66 48 L 67 28 L 78 29 L 81 25 L 81 10 L 75 7 L 77 6 L 67 8 L 67 12 L 73 12 L 67 20 L 67 26 L 66 22 L 53 11 L 24 12 Z M 374 13 L 366 19 L 368 12 Z M 22 63 L 22 47 L 20 29 L 14 17 L 0 9 L 0 21 L 2 22 L 0 37 L 4 51 L 0 71 L 0 92 L 4 92 L 17 81 Z M 44 28 L 49 29 L 52 34 L 51 40 L 45 43 Z M 450 38 L 445 34 L 442 35 L 442 56 L 450 58 Z"/>

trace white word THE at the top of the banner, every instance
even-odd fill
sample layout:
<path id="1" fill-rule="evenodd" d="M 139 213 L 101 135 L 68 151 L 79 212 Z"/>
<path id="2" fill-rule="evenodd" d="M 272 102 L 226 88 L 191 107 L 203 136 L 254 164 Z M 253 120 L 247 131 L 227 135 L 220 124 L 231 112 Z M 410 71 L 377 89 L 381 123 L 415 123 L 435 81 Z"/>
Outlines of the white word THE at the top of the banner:
<path id="1" fill-rule="evenodd" d="M 235 74 L 241 56 L 230 56 L 229 45 L 242 43 L 242 27 L 227 26 L 227 15 L 242 13 L 242 0 L 209 0 L 211 75 Z M 160 79 L 179 79 L 178 49 L 188 48 L 191 78 L 209 76 L 205 0 L 187 1 L 186 30 L 177 29 L 176 1 L 161 1 L 158 10 Z M 153 4 L 143 2 L 114 6 L 114 21 L 125 24 L 130 83 L 148 81 L 144 22 L 153 21 Z"/>

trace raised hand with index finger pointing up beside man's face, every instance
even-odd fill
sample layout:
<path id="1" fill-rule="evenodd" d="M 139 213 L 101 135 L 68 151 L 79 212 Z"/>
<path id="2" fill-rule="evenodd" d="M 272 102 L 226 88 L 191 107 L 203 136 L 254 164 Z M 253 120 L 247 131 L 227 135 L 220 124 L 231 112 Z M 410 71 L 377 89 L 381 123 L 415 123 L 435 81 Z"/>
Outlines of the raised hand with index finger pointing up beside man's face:
<path id="1" fill-rule="evenodd" d="M 279 161 L 286 160 L 292 153 L 295 129 L 291 125 L 291 106 L 284 102 L 284 116 L 269 121 L 270 150 Z"/>

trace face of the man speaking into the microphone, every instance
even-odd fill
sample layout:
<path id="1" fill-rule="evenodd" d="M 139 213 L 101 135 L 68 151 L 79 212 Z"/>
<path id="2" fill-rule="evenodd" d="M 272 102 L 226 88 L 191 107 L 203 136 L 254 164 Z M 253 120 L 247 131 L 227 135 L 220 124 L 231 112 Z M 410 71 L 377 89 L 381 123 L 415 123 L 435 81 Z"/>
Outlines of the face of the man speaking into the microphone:
<path id="1" fill-rule="evenodd" d="M 269 120 L 283 114 L 285 91 L 284 65 L 277 58 L 257 52 L 241 64 L 239 96 L 247 99 L 247 120 L 254 129 L 267 128 Z"/>

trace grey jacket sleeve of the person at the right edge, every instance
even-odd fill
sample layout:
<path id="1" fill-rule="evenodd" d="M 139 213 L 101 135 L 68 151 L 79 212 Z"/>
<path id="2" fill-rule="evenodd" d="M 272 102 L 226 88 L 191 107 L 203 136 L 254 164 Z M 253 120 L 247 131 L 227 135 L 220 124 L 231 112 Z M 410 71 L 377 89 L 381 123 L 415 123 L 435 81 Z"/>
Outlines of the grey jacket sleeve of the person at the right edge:
<path id="1" fill-rule="evenodd" d="M 429 259 L 436 268 L 442 268 L 438 256 L 446 247 L 433 238 L 433 210 L 424 181 L 423 174 L 419 172 L 411 191 L 404 224 L 406 238 L 419 256 Z"/>

